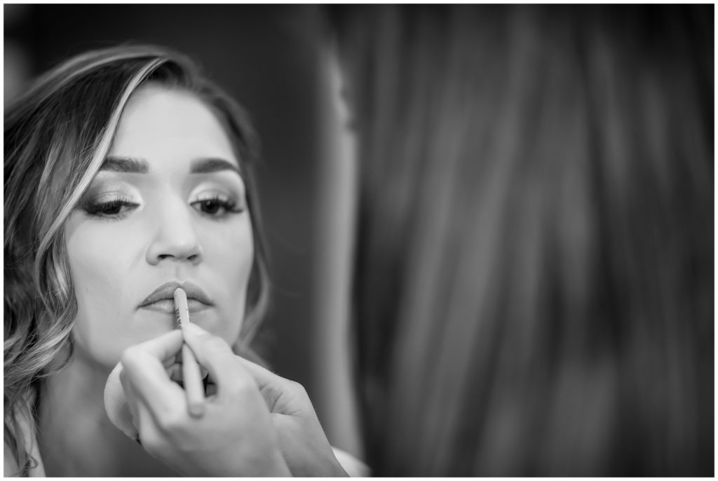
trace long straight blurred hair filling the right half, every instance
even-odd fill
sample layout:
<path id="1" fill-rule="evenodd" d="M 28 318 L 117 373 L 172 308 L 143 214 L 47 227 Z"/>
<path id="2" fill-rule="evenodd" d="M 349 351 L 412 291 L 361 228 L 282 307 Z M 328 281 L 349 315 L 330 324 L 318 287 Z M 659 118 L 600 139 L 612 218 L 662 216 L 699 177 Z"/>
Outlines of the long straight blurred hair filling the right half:
<path id="1" fill-rule="evenodd" d="M 710 475 L 712 9 L 332 13 L 376 474 Z"/>

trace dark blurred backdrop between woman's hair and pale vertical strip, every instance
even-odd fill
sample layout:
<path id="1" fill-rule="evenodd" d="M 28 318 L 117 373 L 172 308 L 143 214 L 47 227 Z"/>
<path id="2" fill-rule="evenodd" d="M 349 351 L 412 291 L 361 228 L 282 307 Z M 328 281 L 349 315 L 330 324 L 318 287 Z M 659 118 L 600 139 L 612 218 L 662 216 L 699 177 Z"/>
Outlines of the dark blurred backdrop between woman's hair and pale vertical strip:
<path id="1" fill-rule="evenodd" d="M 262 144 L 258 190 L 274 284 L 261 353 L 312 396 L 317 7 L 15 4 L 4 5 L 4 24 L 6 102 L 71 55 L 146 42 L 194 58 L 247 108 Z"/>

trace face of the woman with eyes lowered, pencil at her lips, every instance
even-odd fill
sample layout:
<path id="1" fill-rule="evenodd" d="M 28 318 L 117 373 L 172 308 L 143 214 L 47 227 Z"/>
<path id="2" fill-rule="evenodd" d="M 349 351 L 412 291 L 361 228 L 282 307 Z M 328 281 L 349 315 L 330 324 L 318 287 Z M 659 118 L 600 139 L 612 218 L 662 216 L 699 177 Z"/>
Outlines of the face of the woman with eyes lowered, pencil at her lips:
<path id="1" fill-rule="evenodd" d="M 65 240 L 79 353 L 111 366 L 126 347 L 174 329 L 177 286 L 192 322 L 236 342 L 251 219 L 230 141 L 194 95 L 159 85 L 132 95 Z"/>

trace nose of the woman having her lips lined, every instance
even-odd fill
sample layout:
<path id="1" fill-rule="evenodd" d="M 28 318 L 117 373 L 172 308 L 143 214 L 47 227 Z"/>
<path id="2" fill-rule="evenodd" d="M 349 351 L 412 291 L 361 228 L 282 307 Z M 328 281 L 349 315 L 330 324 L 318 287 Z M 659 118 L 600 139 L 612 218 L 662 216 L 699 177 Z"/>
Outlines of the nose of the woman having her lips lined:
<path id="1" fill-rule="evenodd" d="M 153 223 L 157 230 L 147 249 L 147 262 L 154 266 L 167 260 L 202 261 L 202 246 L 187 205 L 177 202 L 165 206 Z"/>

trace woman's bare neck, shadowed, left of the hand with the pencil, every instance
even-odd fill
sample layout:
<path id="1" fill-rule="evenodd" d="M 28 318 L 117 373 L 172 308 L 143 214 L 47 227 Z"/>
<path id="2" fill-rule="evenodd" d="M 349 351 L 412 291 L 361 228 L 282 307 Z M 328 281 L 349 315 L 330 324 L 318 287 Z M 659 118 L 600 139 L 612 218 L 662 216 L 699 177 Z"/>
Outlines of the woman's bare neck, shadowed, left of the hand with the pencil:
<path id="1" fill-rule="evenodd" d="M 48 476 L 177 476 L 107 417 L 110 368 L 76 352 L 40 393 L 38 442 Z"/>

